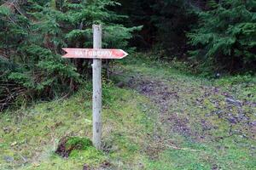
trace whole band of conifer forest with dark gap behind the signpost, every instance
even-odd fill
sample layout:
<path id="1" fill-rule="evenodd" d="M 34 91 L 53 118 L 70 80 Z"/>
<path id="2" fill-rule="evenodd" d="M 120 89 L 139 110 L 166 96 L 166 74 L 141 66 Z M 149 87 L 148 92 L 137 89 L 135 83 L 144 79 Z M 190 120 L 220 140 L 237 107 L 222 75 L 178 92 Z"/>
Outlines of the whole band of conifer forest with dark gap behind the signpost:
<path id="1" fill-rule="evenodd" d="M 255 0 L 0 0 L 0 110 L 72 94 L 90 78 L 90 60 L 61 48 L 103 48 L 184 61 L 205 77 L 256 71 Z M 106 61 L 104 61 L 106 62 Z"/>

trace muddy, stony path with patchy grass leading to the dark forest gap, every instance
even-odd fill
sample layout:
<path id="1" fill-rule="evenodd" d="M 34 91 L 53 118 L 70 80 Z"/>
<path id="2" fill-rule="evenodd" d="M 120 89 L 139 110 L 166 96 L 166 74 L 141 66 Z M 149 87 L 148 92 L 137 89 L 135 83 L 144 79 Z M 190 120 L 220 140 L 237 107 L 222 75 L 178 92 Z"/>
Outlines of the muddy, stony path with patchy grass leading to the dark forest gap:
<path id="1" fill-rule="evenodd" d="M 217 151 L 229 150 L 221 143 L 230 139 L 237 148 L 256 156 L 256 103 L 236 99 L 236 93 L 240 92 L 196 78 L 159 78 L 139 71 L 134 76 L 125 69 L 116 75 L 127 72 L 128 76 L 121 78 L 124 88 L 143 94 L 158 108 L 154 133 L 146 148 L 152 159 L 158 159 L 163 150 L 170 148 L 195 150 L 184 147 L 180 138 L 193 144 L 208 144 Z M 212 163 L 212 169 L 218 168 L 221 167 Z"/>

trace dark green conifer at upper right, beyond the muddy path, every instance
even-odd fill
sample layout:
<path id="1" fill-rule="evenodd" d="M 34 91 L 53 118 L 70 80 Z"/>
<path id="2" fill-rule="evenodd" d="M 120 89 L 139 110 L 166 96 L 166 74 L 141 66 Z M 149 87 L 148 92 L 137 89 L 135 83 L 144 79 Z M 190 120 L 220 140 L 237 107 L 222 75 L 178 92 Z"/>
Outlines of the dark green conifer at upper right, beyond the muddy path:
<path id="1" fill-rule="evenodd" d="M 199 26 L 188 34 L 193 59 L 210 71 L 256 71 L 255 1 L 209 1 L 208 7 L 197 11 Z"/>

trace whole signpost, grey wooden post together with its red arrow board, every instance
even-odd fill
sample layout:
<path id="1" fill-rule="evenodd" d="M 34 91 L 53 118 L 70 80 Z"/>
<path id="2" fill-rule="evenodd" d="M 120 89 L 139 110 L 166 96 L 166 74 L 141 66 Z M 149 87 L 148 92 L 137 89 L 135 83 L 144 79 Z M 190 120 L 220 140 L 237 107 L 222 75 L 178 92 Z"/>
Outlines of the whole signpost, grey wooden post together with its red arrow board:
<path id="1" fill-rule="evenodd" d="M 102 49 L 102 26 L 93 25 L 93 48 L 63 48 L 62 58 L 93 59 L 93 144 L 97 150 L 102 145 L 102 59 L 122 59 L 128 54 L 121 49 Z"/>

